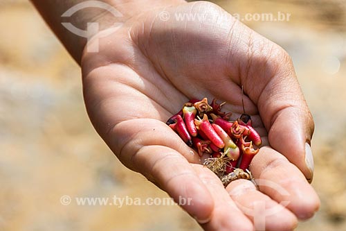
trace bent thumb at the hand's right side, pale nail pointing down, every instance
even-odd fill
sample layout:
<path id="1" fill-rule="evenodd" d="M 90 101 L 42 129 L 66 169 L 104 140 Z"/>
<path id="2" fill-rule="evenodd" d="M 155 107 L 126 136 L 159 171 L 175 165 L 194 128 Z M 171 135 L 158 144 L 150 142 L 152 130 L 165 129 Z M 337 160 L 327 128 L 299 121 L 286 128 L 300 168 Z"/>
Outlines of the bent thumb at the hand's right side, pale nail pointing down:
<path id="1" fill-rule="evenodd" d="M 260 35 L 253 36 L 256 37 L 253 41 L 266 40 Z M 313 157 L 309 144 L 313 119 L 289 55 L 280 46 L 266 41 L 262 53 L 253 53 L 253 68 L 244 80 L 244 91 L 257 103 L 271 146 L 298 166 L 311 182 Z"/>

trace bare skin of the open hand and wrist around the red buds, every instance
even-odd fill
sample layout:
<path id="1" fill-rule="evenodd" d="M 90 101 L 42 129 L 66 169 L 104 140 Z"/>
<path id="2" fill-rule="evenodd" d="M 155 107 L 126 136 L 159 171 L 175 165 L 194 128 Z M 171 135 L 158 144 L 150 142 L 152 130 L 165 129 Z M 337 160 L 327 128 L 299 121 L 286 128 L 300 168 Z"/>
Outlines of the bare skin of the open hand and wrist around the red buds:
<path id="1" fill-rule="evenodd" d="M 212 3 L 109 0 L 104 2 L 124 17 L 88 9 L 71 18 L 78 28 L 102 22 L 104 31 L 95 33 L 91 42 L 99 38 L 99 52 L 89 53 L 86 40 L 60 24 L 60 15 L 79 2 L 33 1 L 80 63 L 91 122 L 125 166 L 175 200 L 192 198 L 192 205 L 182 207 L 204 230 L 258 228 L 244 208 L 259 201 L 266 208 L 281 206 L 266 216 L 266 230 L 293 230 L 298 219 L 313 216 L 320 201 L 306 180 L 313 173 L 304 162 L 313 119 L 291 59 L 280 46 Z M 167 21 L 158 17 L 163 10 L 171 15 Z M 179 22 L 175 12 L 206 17 Z M 123 24 L 104 37 L 114 22 Z M 183 103 L 203 97 L 226 101 L 224 110 L 236 119 L 243 112 L 242 85 L 246 113 L 266 144 L 251 163 L 253 177 L 273 182 L 286 194 L 265 184 L 256 189 L 246 180 L 224 189 L 217 176 L 203 168 L 199 155 L 165 125 Z M 282 201 L 289 204 L 278 205 Z"/>

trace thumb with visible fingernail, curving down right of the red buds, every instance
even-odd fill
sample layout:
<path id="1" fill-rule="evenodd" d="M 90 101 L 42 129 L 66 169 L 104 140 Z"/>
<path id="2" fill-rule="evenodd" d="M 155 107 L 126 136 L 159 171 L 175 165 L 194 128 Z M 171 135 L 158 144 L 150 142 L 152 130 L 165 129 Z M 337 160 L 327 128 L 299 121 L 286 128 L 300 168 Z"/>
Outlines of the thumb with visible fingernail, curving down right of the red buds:
<path id="1" fill-rule="evenodd" d="M 268 130 L 271 147 L 298 166 L 311 182 L 313 118 L 295 76 L 291 58 L 282 49 L 279 51 L 274 55 L 272 64 L 275 68 L 269 71 L 271 75 L 264 77 L 267 79 L 262 82 L 263 90 L 257 96 L 257 106 Z"/>

